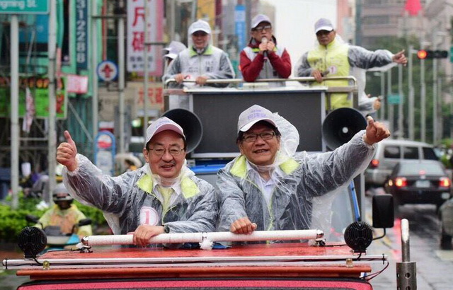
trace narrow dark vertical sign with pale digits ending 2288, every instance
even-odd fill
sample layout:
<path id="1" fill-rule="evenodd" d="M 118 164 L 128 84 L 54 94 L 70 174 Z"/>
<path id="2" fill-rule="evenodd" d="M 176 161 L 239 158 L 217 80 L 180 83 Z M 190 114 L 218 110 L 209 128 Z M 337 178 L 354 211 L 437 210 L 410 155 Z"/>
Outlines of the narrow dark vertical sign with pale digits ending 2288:
<path id="1" fill-rule="evenodd" d="M 76 66 L 88 69 L 88 5 L 76 0 Z"/>

